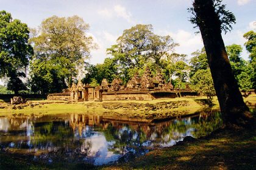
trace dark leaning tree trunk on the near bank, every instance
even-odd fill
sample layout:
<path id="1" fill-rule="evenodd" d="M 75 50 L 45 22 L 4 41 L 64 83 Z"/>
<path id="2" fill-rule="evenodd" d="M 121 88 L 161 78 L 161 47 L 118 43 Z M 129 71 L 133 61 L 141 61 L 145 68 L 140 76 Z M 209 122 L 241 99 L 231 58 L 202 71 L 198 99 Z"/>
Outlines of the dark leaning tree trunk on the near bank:
<path id="1" fill-rule="evenodd" d="M 201 19 L 198 26 L 225 121 L 244 123 L 246 120 L 251 120 L 252 114 L 243 101 L 227 57 L 221 36 L 221 21 L 215 12 L 213 1 L 195 0 L 193 6 L 194 12 Z"/>

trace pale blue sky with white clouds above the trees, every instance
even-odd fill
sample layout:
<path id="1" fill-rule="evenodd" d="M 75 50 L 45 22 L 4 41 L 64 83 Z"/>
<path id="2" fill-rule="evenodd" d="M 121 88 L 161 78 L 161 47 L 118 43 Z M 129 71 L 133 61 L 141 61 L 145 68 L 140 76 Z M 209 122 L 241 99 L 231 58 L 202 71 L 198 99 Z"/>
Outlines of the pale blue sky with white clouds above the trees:
<path id="1" fill-rule="evenodd" d="M 256 31 L 256 0 L 223 0 L 236 16 L 232 32 L 223 35 L 226 45 L 233 43 L 243 46 L 246 39 L 243 34 Z M 52 15 L 78 15 L 90 25 L 88 35 L 93 36 L 98 49 L 91 51 L 91 64 L 103 63 L 107 57 L 106 49 L 116 44 L 123 30 L 136 24 L 152 24 L 157 35 L 170 35 L 179 43 L 177 53 L 191 57 L 191 53 L 202 49 L 200 34 L 195 34 L 188 19 L 188 7 L 192 0 L 0 0 L 0 10 L 12 14 L 15 19 L 25 22 L 30 28 L 37 28 L 43 19 Z M 243 58 L 248 53 L 243 50 Z"/>

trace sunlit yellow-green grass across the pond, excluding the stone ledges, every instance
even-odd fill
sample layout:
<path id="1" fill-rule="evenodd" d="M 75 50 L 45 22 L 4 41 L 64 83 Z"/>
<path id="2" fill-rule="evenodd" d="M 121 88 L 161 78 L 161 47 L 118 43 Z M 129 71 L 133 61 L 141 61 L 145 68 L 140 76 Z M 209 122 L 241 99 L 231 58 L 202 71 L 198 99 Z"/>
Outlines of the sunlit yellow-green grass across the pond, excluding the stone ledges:
<path id="1" fill-rule="evenodd" d="M 122 109 L 115 109 L 115 110 L 107 110 L 102 107 L 104 103 L 142 103 L 142 104 L 157 104 L 160 102 L 168 102 L 168 101 L 188 101 L 188 106 L 186 107 L 178 107 L 172 109 L 172 111 L 183 111 L 188 110 L 188 114 L 192 114 L 199 109 L 202 109 L 205 106 L 202 106 L 198 100 L 205 100 L 206 97 L 193 97 L 193 98 L 163 98 L 151 101 L 138 101 L 138 100 L 128 100 L 128 101 L 82 101 L 68 104 L 68 101 L 52 101 L 52 100 L 29 100 L 29 103 L 38 104 L 34 107 L 24 107 L 23 109 L 12 109 L 13 106 L 7 106 L 4 101 L 0 100 L 0 104 L 5 106 L 5 109 L 0 109 L 0 116 L 1 115 L 10 115 L 10 114 L 67 114 L 67 113 L 87 113 L 91 114 L 93 112 L 97 112 L 97 114 L 102 114 L 103 112 L 116 112 L 122 113 L 124 110 Z M 244 98 L 244 101 L 249 104 L 250 106 L 256 106 L 256 95 L 251 95 L 247 98 Z M 43 104 L 48 103 L 48 104 Z M 218 100 L 216 97 L 213 98 L 213 109 L 219 109 Z M 128 110 L 129 111 L 129 110 Z M 136 112 L 137 114 L 144 114 L 144 112 L 140 112 L 140 110 L 130 110 L 130 114 Z"/>

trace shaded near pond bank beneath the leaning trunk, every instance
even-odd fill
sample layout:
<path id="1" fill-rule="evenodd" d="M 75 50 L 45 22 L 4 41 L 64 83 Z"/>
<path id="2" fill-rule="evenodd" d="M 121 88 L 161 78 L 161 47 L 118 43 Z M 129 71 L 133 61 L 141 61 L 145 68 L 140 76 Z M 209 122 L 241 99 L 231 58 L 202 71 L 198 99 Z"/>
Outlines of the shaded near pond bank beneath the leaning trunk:
<path id="1" fill-rule="evenodd" d="M 128 163 L 98 169 L 255 169 L 255 129 L 218 129 L 207 137 L 181 141 Z"/>

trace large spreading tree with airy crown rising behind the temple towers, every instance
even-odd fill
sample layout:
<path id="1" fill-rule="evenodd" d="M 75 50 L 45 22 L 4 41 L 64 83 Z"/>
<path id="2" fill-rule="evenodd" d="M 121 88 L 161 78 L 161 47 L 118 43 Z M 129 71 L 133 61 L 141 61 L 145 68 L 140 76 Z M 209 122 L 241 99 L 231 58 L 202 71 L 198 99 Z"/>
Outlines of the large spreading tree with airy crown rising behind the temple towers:
<path id="1" fill-rule="evenodd" d="M 141 75 L 146 66 L 152 67 L 152 72 L 166 72 L 166 60 L 177 45 L 170 36 L 155 35 L 152 25 L 138 24 L 124 30 L 107 53 L 118 66 L 118 76 L 127 83 L 135 72 Z"/>

